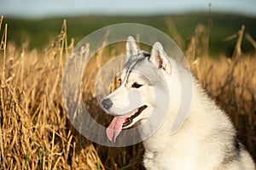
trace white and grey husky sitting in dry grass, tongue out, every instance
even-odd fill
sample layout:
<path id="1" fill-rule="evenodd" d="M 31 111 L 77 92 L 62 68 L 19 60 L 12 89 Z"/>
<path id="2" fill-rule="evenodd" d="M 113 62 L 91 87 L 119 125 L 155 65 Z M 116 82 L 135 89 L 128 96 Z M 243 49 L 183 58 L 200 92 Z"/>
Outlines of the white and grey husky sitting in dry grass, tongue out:
<path id="1" fill-rule="evenodd" d="M 133 37 L 128 37 L 120 86 L 102 99 L 104 110 L 114 116 L 107 128 L 108 139 L 115 142 L 123 129 L 149 121 L 140 131 L 143 135 L 154 128 L 150 127 L 154 124 L 150 116 L 166 114 L 156 132 L 143 141 L 146 169 L 255 170 L 253 159 L 238 141 L 229 117 L 194 77 L 190 84 L 189 115 L 177 133 L 171 135 L 182 97 L 180 79 L 189 73 L 167 56 L 160 42 L 154 42 L 151 53 L 147 53 L 138 47 Z M 161 99 L 154 99 L 155 92 L 162 95 Z M 163 105 L 170 106 L 162 111 Z"/>

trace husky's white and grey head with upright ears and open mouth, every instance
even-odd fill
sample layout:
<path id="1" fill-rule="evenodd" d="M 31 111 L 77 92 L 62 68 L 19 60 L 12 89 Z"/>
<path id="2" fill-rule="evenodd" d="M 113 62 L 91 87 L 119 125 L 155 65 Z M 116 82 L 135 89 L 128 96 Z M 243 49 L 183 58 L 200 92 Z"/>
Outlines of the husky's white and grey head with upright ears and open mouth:
<path id="1" fill-rule="evenodd" d="M 160 42 L 154 43 L 149 54 L 137 46 L 133 37 L 127 38 L 120 86 L 102 99 L 104 110 L 114 116 L 107 129 L 109 140 L 115 142 L 122 129 L 148 119 L 156 106 L 156 91 L 168 94 L 163 79 L 171 72 L 171 64 Z"/>

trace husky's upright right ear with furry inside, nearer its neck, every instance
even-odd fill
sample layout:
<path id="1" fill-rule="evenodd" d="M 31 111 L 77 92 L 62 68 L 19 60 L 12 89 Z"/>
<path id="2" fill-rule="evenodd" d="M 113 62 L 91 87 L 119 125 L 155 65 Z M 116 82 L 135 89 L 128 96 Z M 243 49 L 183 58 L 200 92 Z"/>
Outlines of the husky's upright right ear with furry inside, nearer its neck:
<path id="1" fill-rule="evenodd" d="M 168 74 L 171 74 L 171 64 L 166 57 L 168 56 L 166 55 L 162 44 L 160 42 L 154 42 L 149 61 L 157 68 L 163 69 Z"/>

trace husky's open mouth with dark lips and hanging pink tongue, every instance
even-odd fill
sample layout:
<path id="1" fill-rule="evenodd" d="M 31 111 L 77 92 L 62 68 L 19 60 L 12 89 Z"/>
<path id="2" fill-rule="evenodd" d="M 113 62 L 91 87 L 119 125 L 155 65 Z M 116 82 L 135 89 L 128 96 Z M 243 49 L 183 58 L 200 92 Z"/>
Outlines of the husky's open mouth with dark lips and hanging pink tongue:
<path id="1" fill-rule="evenodd" d="M 131 125 L 133 120 L 137 116 L 139 116 L 146 108 L 147 108 L 147 105 L 143 105 L 143 106 L 137 108 L 136 110 L 125 114 L 125 116 L 113 117 L 113 120 L 109 124 L 107 131 L 106 131 L 108 139 L 110 141 L 115 142 L 115 139 L 117 138 L 117 136 L 119 135 L 121 130 L 128 127 L 129 125 Z"/>

